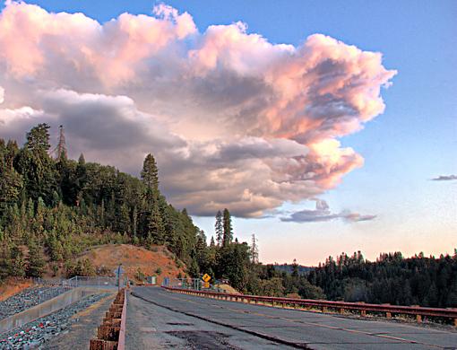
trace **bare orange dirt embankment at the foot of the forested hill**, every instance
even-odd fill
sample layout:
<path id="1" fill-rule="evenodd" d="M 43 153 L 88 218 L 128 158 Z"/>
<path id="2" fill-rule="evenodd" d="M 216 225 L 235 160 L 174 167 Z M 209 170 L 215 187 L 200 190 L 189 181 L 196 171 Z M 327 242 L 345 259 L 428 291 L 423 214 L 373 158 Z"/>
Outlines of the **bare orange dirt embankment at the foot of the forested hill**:
<path id="1" fill-rule="evenodd" d="M 149 250 L 129 244 L 107 244 L 91 249 L 78 259 L 84 258 L 88 258 L 93 267 L 105 267 L 109 272 L 122 264 L 126 275 L 136 281 L 140 276 L 157 276 L 157 284 L 161 284 L 166 276 L 185 276 L 184 263 L 163 246 Z"/>

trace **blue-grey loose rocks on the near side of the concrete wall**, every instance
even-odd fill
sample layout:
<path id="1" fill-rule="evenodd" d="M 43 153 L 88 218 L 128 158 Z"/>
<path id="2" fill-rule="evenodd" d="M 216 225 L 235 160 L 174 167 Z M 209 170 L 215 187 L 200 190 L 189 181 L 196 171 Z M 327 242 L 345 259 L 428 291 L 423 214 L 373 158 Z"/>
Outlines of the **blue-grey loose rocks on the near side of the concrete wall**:
<path id="1" fill-rule="evenodd" d="M 45 349 L 47 342 L 52 337 L 68 333 L 72 324 L 78 322 L 77 318 L 72 319 L 75 313 L 86 309 L 92 303 L 98 302 L 108 295 L 108 293 L 89 295 L 79 302 L 68 305 L 64 309 L 0 335 L 0 350 Z"/>

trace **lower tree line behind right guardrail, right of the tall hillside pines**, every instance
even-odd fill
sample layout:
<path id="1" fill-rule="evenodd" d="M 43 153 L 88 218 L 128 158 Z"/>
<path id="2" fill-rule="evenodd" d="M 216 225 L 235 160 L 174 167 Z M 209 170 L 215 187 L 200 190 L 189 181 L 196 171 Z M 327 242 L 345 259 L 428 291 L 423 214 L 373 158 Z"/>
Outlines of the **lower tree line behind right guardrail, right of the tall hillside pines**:
<path id="1" fill-rule="evenodd" d="M 426 307 L 457 307 L 457 249 L 453 256 L 404 258 L 401 252 L 382 253 L 375 261 L 360 251 L 329 257 L 318 267 L 257 264 L 250 267 L 248 293 L 390 303 Z"/>

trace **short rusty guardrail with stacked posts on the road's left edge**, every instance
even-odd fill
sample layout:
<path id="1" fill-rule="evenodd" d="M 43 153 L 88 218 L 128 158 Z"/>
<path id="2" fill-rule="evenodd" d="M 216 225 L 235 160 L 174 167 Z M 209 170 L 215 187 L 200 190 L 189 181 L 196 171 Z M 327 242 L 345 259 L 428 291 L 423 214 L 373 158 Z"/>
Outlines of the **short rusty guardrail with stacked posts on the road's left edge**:
<path id="1" fill-rule="evenodd" d="M 126 311 L 127 294 L 124 288 L 117 293 L 103 323 L 97 329 L 97 337 L 91 339 L 90 350 L 125 350 Z"/>

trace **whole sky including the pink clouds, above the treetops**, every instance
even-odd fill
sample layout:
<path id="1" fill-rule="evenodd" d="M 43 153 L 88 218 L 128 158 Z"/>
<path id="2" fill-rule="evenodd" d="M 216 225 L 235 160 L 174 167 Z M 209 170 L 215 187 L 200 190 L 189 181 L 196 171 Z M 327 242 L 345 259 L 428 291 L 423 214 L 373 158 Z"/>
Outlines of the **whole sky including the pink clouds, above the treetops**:
<path id="1" fill-rule="evenodd" d="M 264 263 L 457 248 L 453 1 L 28 1 L 0 14 L 0 137 L 65 126 Z"/>

